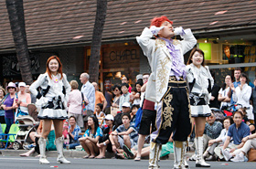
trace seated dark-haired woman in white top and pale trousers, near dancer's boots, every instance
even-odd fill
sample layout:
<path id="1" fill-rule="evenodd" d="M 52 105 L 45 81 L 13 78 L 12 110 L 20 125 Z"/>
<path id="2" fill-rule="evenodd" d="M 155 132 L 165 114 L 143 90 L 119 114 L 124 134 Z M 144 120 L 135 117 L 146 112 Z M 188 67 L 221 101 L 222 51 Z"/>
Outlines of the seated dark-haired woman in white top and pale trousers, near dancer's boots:
<path id="1" fill-rule="evenodd" d="M 220 152 L 221 152 L 223 143 L 225 142 L 225 140 L 227 138 L 229 126 L 232 123 L 234 123 L 233 119 L 230 116 L 226 117 L 223 121 L 224 129 L 222 129 L 222 131 L 220 132 L 219 137 L 217 139 L 208 141 L 208 148 L 207 148 L 206 152 L 204 153 L 204 157 L 209 155 L 208 158 L 206 158 L 206 160 L 208 160 L 208 161 L 216 160 L 218 156 L 219 156 L 219 159 L 224 158 Z"/>

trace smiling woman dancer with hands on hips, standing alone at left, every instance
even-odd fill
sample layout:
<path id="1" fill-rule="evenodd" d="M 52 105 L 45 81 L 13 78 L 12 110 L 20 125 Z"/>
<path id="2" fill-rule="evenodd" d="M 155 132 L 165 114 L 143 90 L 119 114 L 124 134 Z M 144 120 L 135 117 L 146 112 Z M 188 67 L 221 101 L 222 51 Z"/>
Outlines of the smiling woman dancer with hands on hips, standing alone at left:
<path id="1" fill-rule="evenodd" d="M 41 92 L 37 88 L 41 87 Z M 51 120 L 54 123 L 56 135 L 56 148 L 58 151 L 57 162 L 70 164 L 63 156 L 62 127 L 63 120 L 68 119 L 67 102 L 70 92 L 69 81 L 62 73 L 62 64 L 57 56 L 48 58 L 47 71 L 41 74 L 38 79 L 30 86 L 30 91 L 37 96 L 36 105 L 41 108 L 38 118 L 43 120 L 42 136 L 38 140 L 40 149 L 39 164 L 49 164 L 46 158 L 46 143 L 50 132 Z"/>

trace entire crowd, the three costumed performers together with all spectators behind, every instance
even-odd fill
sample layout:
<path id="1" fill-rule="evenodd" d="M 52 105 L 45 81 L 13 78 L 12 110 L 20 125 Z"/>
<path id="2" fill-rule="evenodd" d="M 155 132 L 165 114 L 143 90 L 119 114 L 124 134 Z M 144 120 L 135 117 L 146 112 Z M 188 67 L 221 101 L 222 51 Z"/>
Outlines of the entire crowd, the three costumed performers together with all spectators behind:
<path id="1" fill-rule="evenodd" d="M 184 40 L 171 39 L 177 35 Z M 134 85 L 123 76 L 120 84 L 102 93 L 88 73 L 81 73 L 79 90 L 79 82 L 68 81 L 59 58 L 52 56 L 46 73 L 30 87 L 25 82 L 17 86 L 9 82 L 7 93 L 1 87 L 0 122 L 6 123 L 5 133 L 16 117 L 28 115 L 28 104 L 37 106 L 40 125 L 29 134 L 30 151 L 20 155 L 37 152 L 39 163 L 49 164 L 46 150 L 57 150 L 57 161 L 70 164 L 63 148 L 81 146 L 87 153 L 85 159 L 105 158 L 106 151 L 136 162 L 148 155 L 149 168 L 158 168 L 161 149 L 173 143 L 175 168 L 187 168 L 191 139 L 196 151 L 189 160 L 195 160 L 197 167 L 209 167 L 205 160 L 247 161 L 250 148 L 256 148 L 256 79 L 252 84 L 236 68 L 235 80 L 227 75 L 219 87 L 214 71 L 206 66 L 204 52 L 194 48 L 197 39 L 191 30 L 174 29 L 165 16 L 154 18 L 136 39 L 152 73 L 137 75 Z M 191 49 L 186 66 L 183 54 Z M 216 121 L 212 109 L 233 111 Z"/>

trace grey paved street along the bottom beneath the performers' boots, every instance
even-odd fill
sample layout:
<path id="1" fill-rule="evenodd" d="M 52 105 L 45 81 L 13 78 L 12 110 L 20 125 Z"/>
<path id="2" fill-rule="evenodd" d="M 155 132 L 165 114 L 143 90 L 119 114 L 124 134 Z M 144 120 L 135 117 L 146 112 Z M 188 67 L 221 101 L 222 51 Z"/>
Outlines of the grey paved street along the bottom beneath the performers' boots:
<path id="1" fill-rule="evenodd" d="M 143 169 L 147 168 L 148 161 L 134 162 L 133 160 L 116 160 L 116 159 L 81 159 L 68 158 L 72 164 L 57 164 L 56 158 L 49 157 L 50 164 L 38 164 L 38 159 L 35 157 L 14 157 L 0 156 L 0 168 L 2 169 L 39 169 L 39 168 L 60 168 L 60 169 Z M 170 169 L 173 160 L 162 160 L 160 162 L 161 169 Z M 190 168 L 196 168 L 195 162 L 188 162 Z M 255 163 L 224 163 L 211 162 L 210 169 L 253 169 Z M 54 167 L 55 166 L 55 167 Z M 198 168 L 197 168 L 198 169 Z"/>

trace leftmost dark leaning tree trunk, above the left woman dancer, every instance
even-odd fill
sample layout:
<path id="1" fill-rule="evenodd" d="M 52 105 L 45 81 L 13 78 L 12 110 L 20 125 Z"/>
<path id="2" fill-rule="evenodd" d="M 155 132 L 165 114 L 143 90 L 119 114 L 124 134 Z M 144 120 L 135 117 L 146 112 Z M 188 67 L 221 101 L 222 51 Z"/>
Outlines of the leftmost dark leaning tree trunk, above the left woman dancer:
<path id="1" fill-rule="evenodd" d="M 16 46 L 16 57 L 22 80 L 32 84 L 31 64 L 27 49 L 27 35 L 25 28 L 23 0 L 5 0 L 10 25 Z"/>

